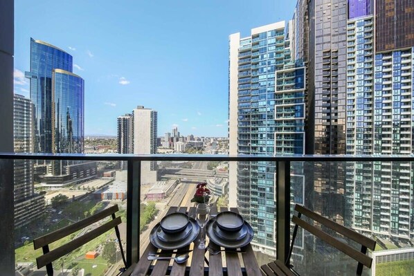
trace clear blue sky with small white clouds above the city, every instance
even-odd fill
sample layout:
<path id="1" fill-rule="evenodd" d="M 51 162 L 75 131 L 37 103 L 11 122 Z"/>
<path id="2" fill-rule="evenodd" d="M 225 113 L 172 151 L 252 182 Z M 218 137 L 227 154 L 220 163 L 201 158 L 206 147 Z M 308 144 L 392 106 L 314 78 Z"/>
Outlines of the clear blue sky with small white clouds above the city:
<path id="1" fill-rule="evenodd" d="M 159 136 L 227 136 L 228 35 L 291 19 L 296 1 L 15 1 L 15 93 L 29 96 L 30 37 L 73 55 L 85 134 L 116 135 L 137 105 Z"/>

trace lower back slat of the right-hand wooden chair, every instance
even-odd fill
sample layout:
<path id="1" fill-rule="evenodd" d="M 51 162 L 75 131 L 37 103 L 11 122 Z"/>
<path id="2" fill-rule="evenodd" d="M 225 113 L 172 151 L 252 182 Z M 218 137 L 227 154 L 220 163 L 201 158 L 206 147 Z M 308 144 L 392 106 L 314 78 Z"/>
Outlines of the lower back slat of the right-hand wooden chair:
<path id="1" fill-rule="evenodd" d="M 315 226 L 311 226 L 306 221 L 303 221 L 303 219 L 299 219 L 298 217 L 294 216 L 292 217 L 292 222 L 296 223 L 298 226 L 307 230 L 308 232 L 314 234 L 316 237 L 322 239 L 326 243 L 329 243 L 331 246 L 334 246 L 334 248 L 341 250 L 346 255 L 352 257 L 352 259 L 355 259 L 356 261 L 359 261 L 360 263 L 362 263 L 364 266 L 368 268 L 371 267 L 372 258 L 368 257 L 367 255 L 362 254 L 358 250 L 355 250 L 354 248 L 348 246 L 347 244 L 330 236 L 329 234 L 326 234 L 325 232 L 316 228 Z"/>

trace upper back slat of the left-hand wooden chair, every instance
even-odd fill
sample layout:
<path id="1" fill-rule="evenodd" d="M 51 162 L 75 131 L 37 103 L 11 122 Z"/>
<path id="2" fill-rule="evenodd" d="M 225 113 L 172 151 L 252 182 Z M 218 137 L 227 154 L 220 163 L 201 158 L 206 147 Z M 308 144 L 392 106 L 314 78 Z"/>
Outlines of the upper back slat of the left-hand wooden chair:
<path id="1" fill-rule="evenodd" d="M 118 205 L 111 206 L 110 208 L 102 210 L 101 212 L 98 212 L 97 214 L 93 214 L 91 217 L 82 219 L 82 221 L 78 221 L 76 223 L 71 224 L 70 226 L 66 226 L 64 228 L 56 230 L 55 232 L 51 232 L 49 234 L 45 234 L 42 237 L 38 237 L 37 239 L 34 239 L 33 246 L 35 250 L 43 246 L 46 246 L 46 244 L 53 243 L 54 241 L 57 241 L 66 236 L 69 236 L 69 234 L 72 234 L 73 232 L 83 229 L 91 225 L 92 223 L 95 223 L 96 221 L 100 221 L 101 219 L 104 219 L 105 217 L 108 217 L 110 214 L 114 214 L 116 212 L 118 212 Z"/>

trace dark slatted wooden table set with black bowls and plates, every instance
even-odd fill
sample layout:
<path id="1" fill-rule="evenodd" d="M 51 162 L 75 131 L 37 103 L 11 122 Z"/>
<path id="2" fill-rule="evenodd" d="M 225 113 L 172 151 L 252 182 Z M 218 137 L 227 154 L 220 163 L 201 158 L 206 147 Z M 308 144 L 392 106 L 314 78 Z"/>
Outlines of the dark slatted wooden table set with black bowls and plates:
<path id="1" fill-rule="evenodd" d="M 227 208 L 221 208 L 221 211 L 228 210 Z M 238 212 L 237 208 L 230 208 L 233 212 Z M 167 214 L 172 212 L 188 212 L 188 215 L 195 218 L 195 207 L 170 207 Z M 211 210 L 212 214 L 217 214 L 217 208 Z M 201 237 L 201 231 L 197 241 Z M 208 243 L 208 246 L 213 249 L 220 249 L 215 243 Z M 204 249 L 198 249 L 194 243 L 184 248 L 179 248 L 179 252 L 184 250 L 191 250 L 192 252 L 186 253 L 190 255 L 190 259 L 184 264 L 177 264 L 173 260 L 158 260 L 149 261 L 147 256 L 150 252 L 162 252 L 163 257 L 174 257 L 174 252 L 177 250 L 159 250 L 150 243 L 141 259 L 138 261 L 134 268 L 132 275 L 144 276 L 144 275 L 190 275 L 190 276 L 201 276 L 201 275 L 228 275 L 228 276 L 261 276 L 260 267 L 258 261 L 255 258 L 251 245 L 244 246 L 241 248 L 245 253 L 238 252 L 220 252 L 217 255 L 211 255 L 210 252 Z M 224 249 L 224 248 L 222 248 Z M 207 252 L 207 253 L 206 253 Z"/>

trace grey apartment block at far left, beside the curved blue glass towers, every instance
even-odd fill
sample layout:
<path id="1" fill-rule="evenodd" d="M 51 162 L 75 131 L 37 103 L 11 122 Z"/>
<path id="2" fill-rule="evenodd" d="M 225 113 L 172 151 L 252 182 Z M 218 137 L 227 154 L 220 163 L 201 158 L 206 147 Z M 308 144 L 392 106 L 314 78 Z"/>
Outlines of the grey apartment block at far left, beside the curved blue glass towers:
<path id="1" fill-rule="evenodd" d="M 33 152 L 33 104 L 22 95 L 14 98 L 15 152 Z M 33 160 L 14 161 L 15 227 L 38 219 L 44 213 L 44 195 L 33 185 Z"/>

